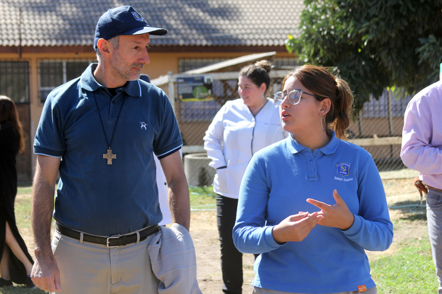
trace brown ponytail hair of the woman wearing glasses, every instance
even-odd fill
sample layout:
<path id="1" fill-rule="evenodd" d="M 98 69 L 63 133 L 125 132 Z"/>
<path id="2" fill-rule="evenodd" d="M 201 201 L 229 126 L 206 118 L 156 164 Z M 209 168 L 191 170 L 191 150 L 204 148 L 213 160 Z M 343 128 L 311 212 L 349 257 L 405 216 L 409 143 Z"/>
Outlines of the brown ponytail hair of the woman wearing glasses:
<path id="1" fill-rule="evenodd" d="M 327 68 L 303 65 L 288 73 L 282 81 L 282 88 L 287 79 L 295 76 L 305 88 L 322 101 L 330 98 L 330 111 L 325 116 L 328 127 L 333 129 L 339 139 L 347 138 L 347 128 L 353 113 L 353 93 L 346 81 L 333 75 Z"/>

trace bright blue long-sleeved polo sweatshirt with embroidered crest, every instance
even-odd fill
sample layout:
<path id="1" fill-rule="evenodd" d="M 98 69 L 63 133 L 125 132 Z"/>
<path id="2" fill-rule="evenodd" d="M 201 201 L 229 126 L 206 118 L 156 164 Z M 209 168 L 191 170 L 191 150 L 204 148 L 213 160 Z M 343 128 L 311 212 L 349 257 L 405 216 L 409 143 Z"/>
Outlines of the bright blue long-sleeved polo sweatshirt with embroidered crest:
<path id="1" fill-rule="evenodd" d="M 355 216 L 348 230 L 316 225 L 301 242 L 277 244 L 273 226 L 300 211 L 333 205 L 333 190 Z M 375 286 L 366 250 L 383 251 L 393 238 L 381 177 L 370 154 L 339 140 L 313 150 L 292 136 L 253 155 L 241 182 L 233 240 L 255 261 L 252 285 L 291 293 L 339 293 Z"/>

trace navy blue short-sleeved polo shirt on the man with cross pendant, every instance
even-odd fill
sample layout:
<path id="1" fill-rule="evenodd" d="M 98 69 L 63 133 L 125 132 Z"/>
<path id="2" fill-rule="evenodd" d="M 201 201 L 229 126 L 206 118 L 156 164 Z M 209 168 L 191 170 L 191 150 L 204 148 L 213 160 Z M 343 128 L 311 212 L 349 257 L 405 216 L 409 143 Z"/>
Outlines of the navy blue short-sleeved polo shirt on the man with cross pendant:
<path id="1" fill-rule="evenodd" d="M 112 236 L 162 220 L 153 153 L 167 156 L 180 149 L 182 139 L 161 89 L 128 81 L 112 97 L 95 80 L 96 66 L 91 64 L 81 77 L 49 94 L 34 153 L 61 157 L 55 220 L 89 234 Z M 111 165 L 103 158 L 108 145 L 95 100 L 109 142 L 117 123 Z"/>

